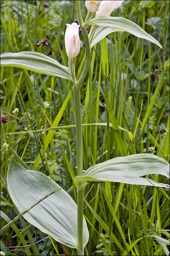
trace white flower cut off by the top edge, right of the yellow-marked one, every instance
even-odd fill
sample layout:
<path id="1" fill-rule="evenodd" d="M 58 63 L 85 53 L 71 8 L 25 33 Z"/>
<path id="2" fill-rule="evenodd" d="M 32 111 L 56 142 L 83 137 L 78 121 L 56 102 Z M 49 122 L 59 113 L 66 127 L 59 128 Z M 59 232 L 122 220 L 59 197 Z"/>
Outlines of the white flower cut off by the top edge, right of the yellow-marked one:
<path id="1" fill-rule="evenodd" d="M 110 16 L 111 13 L 116 10 L 124 0 L 103 0 L 99 6 L 99 11 L 96 12 L 96 17 L 99 16 Z"/>

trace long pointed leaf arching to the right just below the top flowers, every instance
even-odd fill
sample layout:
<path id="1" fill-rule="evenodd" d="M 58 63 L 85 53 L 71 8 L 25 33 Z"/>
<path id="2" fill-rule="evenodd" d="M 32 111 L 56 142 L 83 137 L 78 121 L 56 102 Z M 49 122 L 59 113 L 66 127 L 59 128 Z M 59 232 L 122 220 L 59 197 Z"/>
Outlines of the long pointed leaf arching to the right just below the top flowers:
<path id="1" fill-rule="evenodd" d="M 131 20 L 122 17 L 100 16 L 94 19 L 90 19 L 89 22 L 85 23 L 85 25 L 98 25 L 123 30 L 135 35 L 136 37 L 149 40 L 152 43 L 158 45 L 160 48 L 162 48 L 160 43 L 151 35 L 149 35 L 145 30 L 143 30 L 141 27 L 139 27 Z"/>

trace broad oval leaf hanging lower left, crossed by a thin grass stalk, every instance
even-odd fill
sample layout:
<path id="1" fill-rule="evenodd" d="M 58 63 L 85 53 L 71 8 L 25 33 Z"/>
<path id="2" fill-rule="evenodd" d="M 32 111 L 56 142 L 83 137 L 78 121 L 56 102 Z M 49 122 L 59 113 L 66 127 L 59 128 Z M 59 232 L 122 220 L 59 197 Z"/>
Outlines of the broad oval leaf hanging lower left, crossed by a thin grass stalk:
<path id="1" fill-rule="evenodd" d="M 60 188 L 45 174 L 23 168 L 14 158 L 8 168 L 7 186 L 19 212 L 31 207 L 53 189 Z M 78 248 L 77 204 L 64 189 L 44 199 L 23 217 L 56 241 L 72 248 Z M 88 239 L 87 224 L 83 219 L 84 246 Z"/>

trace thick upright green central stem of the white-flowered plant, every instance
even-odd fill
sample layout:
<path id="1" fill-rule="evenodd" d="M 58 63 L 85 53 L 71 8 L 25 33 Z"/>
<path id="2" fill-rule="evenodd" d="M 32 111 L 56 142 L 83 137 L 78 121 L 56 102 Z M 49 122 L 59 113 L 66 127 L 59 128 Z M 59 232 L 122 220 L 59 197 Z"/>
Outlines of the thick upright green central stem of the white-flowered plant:
<path id="1" fill-rule="evenodd" d="M 83 175 L 83 137 L 82 137 L 82 116 L 81 116 L 81 101 L 80 101 L 80 90 L 81 85 L 85 79 L 85 76 L 88 71 L 89 62 L 90 62 L 90 43 L 88 38 L 87 29 L 84 26 L 82 13 L 81 13 L 81 1 L 76 1 L 77 8 L 77 17 L 79 21 L 80 28 L 82 30 L 82 34 L 85 41 L 86 47 L 86 58 L 84 62 L 84 67 L 80 78 L 78 81 L 75 80 L 75 72 L 73 71 L 73 61 L 69 60 L 69 69 L 71 68 L 71 75 L 74 79 L 73 86 L 73 94 L 74 94 L 74 106 L 75 106 L 75 125 L 76 125 L 76 135 L 77 135 L 77 173 L 78 176 Z M 90 18 L 90 14 L 88 18 Z M 77 213 L 77 234 L 78 234 L 78 249 L 77 255 L 84 255 L 84 244 L 83 244 L 83 203 L 84 203 L 84 188 L 86 184 L 79 183 L 77 189 L 77 205 L 78 205 L 78 213 Z"/>

